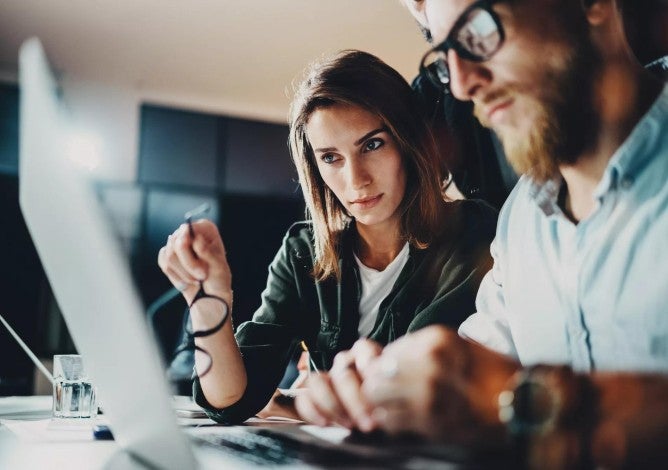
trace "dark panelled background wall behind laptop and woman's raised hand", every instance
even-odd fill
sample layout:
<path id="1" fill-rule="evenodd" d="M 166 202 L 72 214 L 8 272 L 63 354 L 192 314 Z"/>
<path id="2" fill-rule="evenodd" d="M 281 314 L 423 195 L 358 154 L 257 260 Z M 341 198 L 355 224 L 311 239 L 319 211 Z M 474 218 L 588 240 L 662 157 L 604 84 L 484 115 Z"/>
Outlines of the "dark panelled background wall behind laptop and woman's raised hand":
<path id="1" fill-rule="evenodd" d="M 18 103 L 0 84 L 0 313 L 39 355 L 73 352 L 18 203 Z M 267 268 L 304 204 L 287 149 L 285 125 L 228 116 L 141 108 L 137 181 L 100 183 L 99 195 L 149 306 L 171 286 L 156 264 L 167 235 L 203 202 L 223 235 L 233 272 L 235 323 L 259 306 Z M 156 317 L 168 361 L 185 304 L 177 297 Z M 33 367 L 0 327 L 0 395 L 29 394 Z"/>

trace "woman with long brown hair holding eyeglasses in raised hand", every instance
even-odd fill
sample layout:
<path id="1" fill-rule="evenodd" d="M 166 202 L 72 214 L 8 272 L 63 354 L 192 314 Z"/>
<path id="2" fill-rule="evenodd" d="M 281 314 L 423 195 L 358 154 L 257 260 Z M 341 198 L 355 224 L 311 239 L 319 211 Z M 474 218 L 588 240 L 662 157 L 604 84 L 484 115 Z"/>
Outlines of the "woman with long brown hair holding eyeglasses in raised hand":
<path id="1" fill-rule="evenodd" d="M 443 200 L 418 109 L 399 73 L 359 51 L 316 64 L 298 87 L 290 147 L 311 220 L 286 234 L 253 319 L 236 334 L 228 321 L 196 338 L 213 362 L 195 380 L 195 397 L 213 419 L 241 422 L 262 409 L 301 341 L 329 369 L 360 337 L 387 344 L 434 323 L 457 327 L 474 312 L 496 214 Z M 159 264 L 189 305 L 201 282 L 233 310 L 232 274 L 211 222 L 181 226 Z M 211 329 L 217 315 L 191 308 L 196 330 Z"/>

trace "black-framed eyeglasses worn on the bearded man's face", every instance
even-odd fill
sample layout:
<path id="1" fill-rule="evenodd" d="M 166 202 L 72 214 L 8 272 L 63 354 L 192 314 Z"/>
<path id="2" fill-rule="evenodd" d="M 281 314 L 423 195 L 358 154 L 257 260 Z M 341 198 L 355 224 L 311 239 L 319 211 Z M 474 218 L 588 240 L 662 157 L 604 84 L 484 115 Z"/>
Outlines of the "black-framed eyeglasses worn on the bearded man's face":
<path id="1" fill-rule="evenodd" d="M 438 87 L 449 91 L 448 50 L 473 62 L 489 60 L 501 48 L 505 33 L 492 5 L 500 0 L 478 0 L 459 15 L 443 42 L 422 57 L 420 72 Z"/>

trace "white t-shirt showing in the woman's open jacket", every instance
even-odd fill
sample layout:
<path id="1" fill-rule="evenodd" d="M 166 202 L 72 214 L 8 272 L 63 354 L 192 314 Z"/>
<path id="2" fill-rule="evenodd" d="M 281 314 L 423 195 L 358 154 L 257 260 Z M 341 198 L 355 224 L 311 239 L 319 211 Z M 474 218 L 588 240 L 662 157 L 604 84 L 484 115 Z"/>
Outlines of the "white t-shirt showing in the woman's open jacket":
<path id="1" fill-rule="evenodd" d="M 355 255 L 362 280 L 362 296 L 359 305 L 360 323 L 357 327 L 360 337 L 366 338 L 371 333 L 376 324 L 376 317 L 378 317 L 378 308 L 394 287 L 394 283 L 408 261 L 408 253 L 408 242 L 406 242 L 396 258 L 382 271 L 365 266 Z"/>

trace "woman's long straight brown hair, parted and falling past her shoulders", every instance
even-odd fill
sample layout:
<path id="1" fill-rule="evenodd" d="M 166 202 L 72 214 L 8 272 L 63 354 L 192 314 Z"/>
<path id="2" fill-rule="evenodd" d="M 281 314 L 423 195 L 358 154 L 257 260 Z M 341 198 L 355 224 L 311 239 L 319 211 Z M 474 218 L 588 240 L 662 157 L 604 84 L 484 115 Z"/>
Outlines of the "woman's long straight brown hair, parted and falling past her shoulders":
<path id="1" fill-rule="evenodd" d="M 341 236 L 351 217 L 320 176 L 306 126 L 314 111 L 338 104 L 359 106 L 375 114 L 396 141 L 406 172 L 399 209 L 401 235 L 411 245 L 425 248 L 440 228 L 442 213 L 434 139 L 404 78 L 377 57 L 356 50 L 316 62 L 295 90 L 290 150 L 313 221 L 313 275 L 318 280 L 330 276 L 340 279 Z"/>

